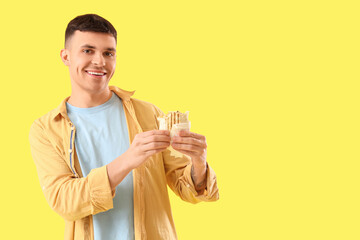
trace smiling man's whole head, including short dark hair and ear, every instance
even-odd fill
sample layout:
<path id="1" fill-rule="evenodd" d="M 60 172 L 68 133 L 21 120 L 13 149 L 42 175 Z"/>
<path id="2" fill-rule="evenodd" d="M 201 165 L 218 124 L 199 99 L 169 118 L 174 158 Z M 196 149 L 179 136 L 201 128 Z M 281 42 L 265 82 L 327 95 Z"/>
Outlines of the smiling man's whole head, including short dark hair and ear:
<path id="1" fill-rule="evenodd" d="M 69 67 L 73 91 L 97 93 L 107 88 L 115 72 L 116 37 L 111 23 L 95 14 L 69 22 L 60 56 Z"/>

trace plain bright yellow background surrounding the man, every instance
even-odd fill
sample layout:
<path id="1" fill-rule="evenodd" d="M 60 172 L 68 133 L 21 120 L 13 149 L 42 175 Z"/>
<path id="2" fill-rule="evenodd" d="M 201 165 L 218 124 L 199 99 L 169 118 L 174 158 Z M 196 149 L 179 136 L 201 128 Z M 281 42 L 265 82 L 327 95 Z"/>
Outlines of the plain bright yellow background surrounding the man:
<path id="1" fill-rule="evenodd" d="M 118 31 L 110 84 L 190 111 L 220 200 L 170 193 L 179 239 L 360 239 L 358 1 L 1 3 L 1 239 L 63 239 L 30 155 L 32 122 L 71 94 L 67 23 Z"/>

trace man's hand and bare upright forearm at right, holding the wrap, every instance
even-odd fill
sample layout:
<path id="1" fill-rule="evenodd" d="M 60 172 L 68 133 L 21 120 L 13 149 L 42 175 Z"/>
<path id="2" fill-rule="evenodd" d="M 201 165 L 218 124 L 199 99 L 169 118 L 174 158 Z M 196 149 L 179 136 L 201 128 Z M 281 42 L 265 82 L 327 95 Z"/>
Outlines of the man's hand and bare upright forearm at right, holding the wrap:
<path id="1" fill-rule="evenodd" d="M 172 138 L 171 146 L 191 158 L 191 178 L 196 191 L 202 194 L 206 187 L 207 144 L 205 136 L 190 131 L 180 131 L 179 136 Z"/>

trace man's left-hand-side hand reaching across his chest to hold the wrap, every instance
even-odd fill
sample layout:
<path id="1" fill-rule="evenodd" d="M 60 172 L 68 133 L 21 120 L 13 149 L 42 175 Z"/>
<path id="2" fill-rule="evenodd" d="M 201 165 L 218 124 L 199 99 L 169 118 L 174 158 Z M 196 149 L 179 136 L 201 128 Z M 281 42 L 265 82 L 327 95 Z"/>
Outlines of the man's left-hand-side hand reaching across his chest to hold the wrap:
<path id="1" fill-rule="evenodd" d="M 167 130 L 152 130 L 137 134 L 126 151 L 131 167 L 136 168 L 150 156 L 164 151 L 170 146 L 170 140 L 170 132 Z"/>

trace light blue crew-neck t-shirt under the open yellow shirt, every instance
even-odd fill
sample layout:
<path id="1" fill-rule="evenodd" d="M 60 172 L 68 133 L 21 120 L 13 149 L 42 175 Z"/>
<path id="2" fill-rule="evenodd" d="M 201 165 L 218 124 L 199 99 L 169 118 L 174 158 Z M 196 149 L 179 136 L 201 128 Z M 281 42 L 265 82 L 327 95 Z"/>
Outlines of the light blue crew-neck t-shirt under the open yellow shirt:
<path id="1" fill-rule="evenodd" d="M 121 99 L 112 93 L 104 104 L 78 108 L 66 103 L 76 127 L 75 147 L 83 176 L 102 167 L 129 148 L 129 135 Z M 116 187 L 114 208 L 95 214 L 95 240 L 134 239 L 133 175 L 130 172 Z"/>

